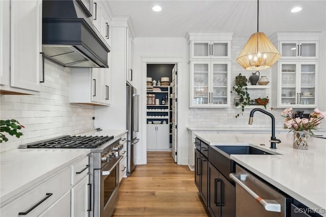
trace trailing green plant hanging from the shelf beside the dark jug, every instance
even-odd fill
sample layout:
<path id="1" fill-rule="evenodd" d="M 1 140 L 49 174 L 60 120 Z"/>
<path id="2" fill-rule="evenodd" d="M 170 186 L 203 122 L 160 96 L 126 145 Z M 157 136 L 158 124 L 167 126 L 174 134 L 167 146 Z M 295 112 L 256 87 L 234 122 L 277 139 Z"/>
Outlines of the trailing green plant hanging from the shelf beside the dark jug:
<path id="1" fill-rule="evenodd" d="M 235 107 L 241 105 L 241 112 L 235 115 L 235 118 L 244 112 L 244 106 L 250 105 L 250 95 L 247 88 L 248 79 L 246 76 L 239 73 L 235 77 L 235 86 L 233 87 L 234 92 L 238 96 L 238 101 L 235 102 Z"/>

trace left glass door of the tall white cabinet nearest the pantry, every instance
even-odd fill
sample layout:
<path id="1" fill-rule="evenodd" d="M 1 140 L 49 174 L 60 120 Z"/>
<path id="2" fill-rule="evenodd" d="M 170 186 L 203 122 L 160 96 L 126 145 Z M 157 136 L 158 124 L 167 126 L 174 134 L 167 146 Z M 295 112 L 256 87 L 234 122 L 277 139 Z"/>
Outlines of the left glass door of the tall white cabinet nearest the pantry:
<path id="1" fill-rule="evenodd" d="M 209 62 L 192 63 L 193 80 L 192 80 L 192 104 L 196 106 L 208 105 L 210 103 L 209 93 Z"/>

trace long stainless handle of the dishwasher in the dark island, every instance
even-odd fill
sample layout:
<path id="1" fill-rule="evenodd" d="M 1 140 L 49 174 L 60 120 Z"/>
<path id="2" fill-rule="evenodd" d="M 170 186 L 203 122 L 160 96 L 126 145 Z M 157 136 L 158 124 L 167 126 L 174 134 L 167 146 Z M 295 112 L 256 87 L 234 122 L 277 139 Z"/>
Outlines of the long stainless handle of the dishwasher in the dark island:
<path id="1" fill-rule="evenodd" d="M 233 181 L 235 181 L 235 183 L 237 183 L 240 187 L 242 187 L 244 191 L 246 191 L 248 194 L 250 194 L 256 200 L 257 203 L 262 205 L 265 208 L 265 210 L 272 211 L 272 212 L 281 212 L 281 204 L 277 203 L 275 200 L 262 199 L 252 189 L 250 189 L 246 184 L 241 182 L 241 178 L 243 176 L 246 177 L 247 176 L 246 174 L 240 175 L 237 173 L 230 173 L 229 176 Z"/>

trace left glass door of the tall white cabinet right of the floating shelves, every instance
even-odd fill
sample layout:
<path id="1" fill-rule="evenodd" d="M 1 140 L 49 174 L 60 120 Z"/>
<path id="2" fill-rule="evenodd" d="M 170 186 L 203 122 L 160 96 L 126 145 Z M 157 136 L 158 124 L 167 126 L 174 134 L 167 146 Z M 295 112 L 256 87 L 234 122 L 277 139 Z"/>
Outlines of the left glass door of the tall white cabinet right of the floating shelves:
<path id="1" fill-rule="evenodd" d="M 296 79 L 297 79 L 297 64 L 296 63 L 283 63 L 280 64 L 280 105 L 293 107 L 297 102 L 296 93 Z"/>

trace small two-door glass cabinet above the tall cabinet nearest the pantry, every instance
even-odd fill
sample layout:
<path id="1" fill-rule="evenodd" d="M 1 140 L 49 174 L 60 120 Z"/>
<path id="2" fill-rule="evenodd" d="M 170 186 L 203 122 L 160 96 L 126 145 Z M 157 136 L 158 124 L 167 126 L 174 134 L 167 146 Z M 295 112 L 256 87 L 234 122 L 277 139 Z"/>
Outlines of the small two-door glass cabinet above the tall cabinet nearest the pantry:
<path id="1" fill-rule="evenodd" d="M 192 41 L 192 59 L 230 58 L 231 41 Z"/>

